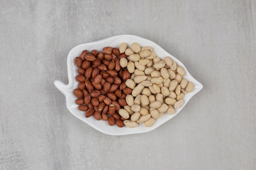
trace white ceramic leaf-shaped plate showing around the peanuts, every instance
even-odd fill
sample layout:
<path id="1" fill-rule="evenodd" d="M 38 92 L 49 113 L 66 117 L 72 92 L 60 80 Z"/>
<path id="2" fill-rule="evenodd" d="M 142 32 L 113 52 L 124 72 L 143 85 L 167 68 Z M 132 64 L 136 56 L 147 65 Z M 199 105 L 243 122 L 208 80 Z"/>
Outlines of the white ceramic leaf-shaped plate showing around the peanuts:
<path id="1" fill-rule="evenodd" d="M 74 63 L 75 57 L 79 56 L 83 50 L 91 51 L 93 49 L 96 49 L 98 51 L 102 51 L 103 47 L 105 46 L 111 46 L 111 47 L 118 47 L 119 44 L 122 42 L 126 42 L 128 46 L 132 44 L 132 42 L 139 43 L 140 46 L 152 46 L 153 51 L 157 55 L 157 57 L 160 57 L 161 59 L 164 59 L 164 57 L 169 56 L 177 63 L 177 65 L 180 65 L 184 68 L 186 71 L 186 75 L 183 76 L 184 78 L 188 79 L 188 81 L 191 81 L 195 84 L 195 89 L 191 93 L 186 93 L 184 95 L 184 104 L 181 108 L 175 109 L 175 113 L 173 115 L 169 115 L 165 113 L 161 118 L 156 119 L 155 124 L 151 127 L 145 127 L 144 124 L 139 124 L 136 128 L 128 128 L 124 126 L 123 128 L 119 128 L 116 125 L 109 126 L 108 121 L 103 120 L 96 120 L 93 116 L 86 118 L 85 112 L 78 110 L 78 105 L 75 103 L 75 100 L 77 99 L 73 93 L 74 89 L 78 87 L 79 82 L 76 81 L 75 77 L 78 75 L 77 69 L 78 67 Z M 187 71 L 186 67 L 177 60 L 175 57 L 173 57 L 171 54 L 166 52 L 164 49 L 162 49 L 159 45 L 157 45 L 155 42 L 152 42 L 150 40 L 147 40 L 145 38 L 141 38 L 135 35 L 117 35 L 110 38 L 106 38 L 103 40 L 90 42 L 81 44 L 78 46 L 75 46 L 67 56 L 67 74 L 69 83 L 63 84 L 61 81 L 55 80 L 54 85 L 58 88 L 59 91 L 61 91 L 65 97 L 66 97 L 66 104 L 67 109 L 78 119 L 84 121 L 86 124 L 90 125 L 92 128 L 95 128 L 96 130 L 99 130 L 100 132 L 103 132 L 108 135 L 129 135 L 129 134 L 137 134 L 137 133 L 144 133 L 149 132 L 151 130 L 154 130 L 155 128 L 161 126 L 162 124 L 169 121 L 171 118 L 173 118 L 175 115 L 177 115 L 182 108 L 189 102 L 191 97 L 198 93 L 202 88 L 202 84 L 198 82 L 195 78 L 193 78 L 189 72 Z"/>

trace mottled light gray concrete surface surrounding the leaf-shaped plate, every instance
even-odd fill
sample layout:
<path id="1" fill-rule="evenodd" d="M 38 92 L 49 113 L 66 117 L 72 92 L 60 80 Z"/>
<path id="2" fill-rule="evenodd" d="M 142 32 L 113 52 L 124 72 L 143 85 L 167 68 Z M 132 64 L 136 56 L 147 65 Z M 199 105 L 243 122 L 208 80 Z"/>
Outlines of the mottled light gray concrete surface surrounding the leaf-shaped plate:
<path id="1" fill-rule="evenodd" d="M 74 46 L 152 40 L 204 85 L 152 132 L 109 136 L 72 116 Z M 255 170 L 255 0 L 0 0 L 0 170 Z"/>

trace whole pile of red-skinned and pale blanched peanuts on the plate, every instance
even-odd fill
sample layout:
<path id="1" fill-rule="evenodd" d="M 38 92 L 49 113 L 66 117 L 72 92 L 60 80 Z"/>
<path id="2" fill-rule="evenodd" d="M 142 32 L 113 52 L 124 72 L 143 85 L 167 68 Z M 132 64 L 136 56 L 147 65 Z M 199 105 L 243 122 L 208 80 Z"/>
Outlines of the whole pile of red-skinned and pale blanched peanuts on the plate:
<path id="1" fill-rule="evenodd" d="M 74 94 L 85 116 L 108 120 L 108 124 L 130 128 L 150 127 L 164 113 L 173 114 L 183 104 L 193 82 L 170 57 L 161 60 L 150 46 L 136 42 L 128 48 L 104 47 L 103 52 L 85 50 L 75 59 L 79 87 Z"/>

